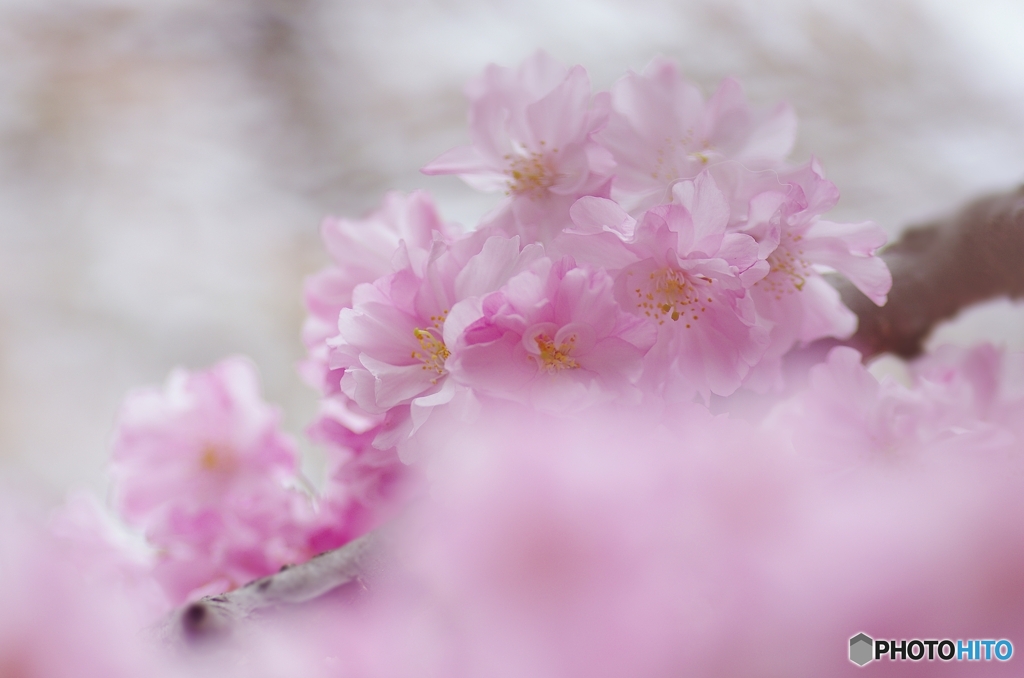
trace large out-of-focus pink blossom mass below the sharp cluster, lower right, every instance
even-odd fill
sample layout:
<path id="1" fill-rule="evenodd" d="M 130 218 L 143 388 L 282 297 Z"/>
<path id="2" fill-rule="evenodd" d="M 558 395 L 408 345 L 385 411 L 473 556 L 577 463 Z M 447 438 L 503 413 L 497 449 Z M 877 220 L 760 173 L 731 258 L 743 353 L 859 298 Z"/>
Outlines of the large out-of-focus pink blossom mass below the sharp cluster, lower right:
<path id="1" fill-rule="evenodd" d="M 434 441 L 394 569 L 354 604 L 276 620 L 273 638 L 336 658 L 330 675 L 812 677 L 859 675 L 845 644 L 861 629 L 1024 632 L 1019 438 L 837 474 L 785 431 L 699 406 L 660 423 L 487 412 Z"/>

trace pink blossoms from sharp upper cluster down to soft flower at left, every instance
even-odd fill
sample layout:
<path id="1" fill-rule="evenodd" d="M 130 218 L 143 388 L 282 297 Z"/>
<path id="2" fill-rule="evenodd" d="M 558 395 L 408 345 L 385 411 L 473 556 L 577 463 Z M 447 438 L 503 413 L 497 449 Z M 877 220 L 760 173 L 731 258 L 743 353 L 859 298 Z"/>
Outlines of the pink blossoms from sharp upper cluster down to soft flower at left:
<path id="1" fill-rule="evenodd" d="M 304 486 L 241 358 L 125 404 L 116 508 L 171 603 L 380 524 L 419 492 L 400 460 L 488 408 L 676 417 L 778 389 L 790 349 L 852 332 L 823 271 L 885 301 L 882 230 L 821 218 L 839 194 L 816 161 L 786 164 L 785 105 L 756 112 L 732 80 L 705 101 L 663 60 L 594 95 L 543 53 L 468 94 L 473 144 L 424 171 L 504 192 L 480 224 L 445 222 L 424 192 L 324 224 L 333 263 L 307 283 L 301 372 L 324 396 L 307 433 L 326 486 Z"/>

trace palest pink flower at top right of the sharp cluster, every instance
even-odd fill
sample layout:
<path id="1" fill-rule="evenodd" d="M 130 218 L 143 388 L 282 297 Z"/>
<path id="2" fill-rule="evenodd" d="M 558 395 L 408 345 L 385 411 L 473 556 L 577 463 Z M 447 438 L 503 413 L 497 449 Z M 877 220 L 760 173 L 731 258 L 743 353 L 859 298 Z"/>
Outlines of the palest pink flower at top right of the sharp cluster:
<path id="1" fill-rule="evenodd" d="M 796 131 L 788 105 L 755 112 L 732 79 L 706 102 L 675 63 L 655 59 L 611 87 L 608 124 L 595 138 L 615 160 L 613 196 L 633 211 L 669 202 L 673 183 L 725 160 L 778 168 Z"/>

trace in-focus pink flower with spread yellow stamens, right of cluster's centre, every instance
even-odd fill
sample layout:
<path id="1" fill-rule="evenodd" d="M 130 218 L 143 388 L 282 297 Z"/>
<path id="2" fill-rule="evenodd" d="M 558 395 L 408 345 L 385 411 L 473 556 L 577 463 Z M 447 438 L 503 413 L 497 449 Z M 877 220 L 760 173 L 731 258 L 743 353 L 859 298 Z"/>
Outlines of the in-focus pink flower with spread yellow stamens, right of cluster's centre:
<path id="1" fill-rule="evenodd" d="M 645 358 L 648 392 L 728 395 L 767 345 L 748 293 L 767 264 L 753 238 L 728 231 L 729 206 L 711 175 L 681 182 L 677 193 L 682 204 L 652 208 L 635 225 L 599 199 L 584 199 L 587 209 L 574 207 L 573 218 L 584 232 L 621 231 L 632 253 L 634 263 L 614 273 L 615 292 L 623 308 L 658 330 Z"/>

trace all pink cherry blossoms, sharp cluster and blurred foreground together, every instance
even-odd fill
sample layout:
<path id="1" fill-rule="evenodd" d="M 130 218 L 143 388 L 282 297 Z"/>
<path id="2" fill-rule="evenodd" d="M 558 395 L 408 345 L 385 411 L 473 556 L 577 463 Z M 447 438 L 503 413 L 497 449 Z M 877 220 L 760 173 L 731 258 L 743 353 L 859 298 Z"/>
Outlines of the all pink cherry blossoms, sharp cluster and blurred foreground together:
<path id="1" fill-rule="evenodd" d="M 664 60 L 594 94 L 545 54 L 467 94 L 472 143 L 424 171 L 504 193 L 479 224 L 424 192 L 324 224 L 300 372 L 325 483 L 244 358 L 133 392 L 114 514 L 80 495 L 44 532 L 0 503 L 0 675 L 820 676 L 865 629 L 1024 633 L 1024 355 L 941 349 L 900 383 L 839 346 L 783 379 L 855 329 L 826 274 L 891 285 L 882 230 L 826 220 L 836 186 L 787 162 L 788 108 Z M 713 413 L 744 391 L 759 416 Z M 382 525 L 365 595 L 211 651 L 134 632 Z"/>

